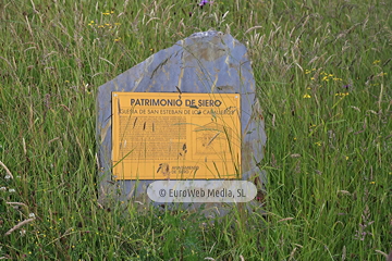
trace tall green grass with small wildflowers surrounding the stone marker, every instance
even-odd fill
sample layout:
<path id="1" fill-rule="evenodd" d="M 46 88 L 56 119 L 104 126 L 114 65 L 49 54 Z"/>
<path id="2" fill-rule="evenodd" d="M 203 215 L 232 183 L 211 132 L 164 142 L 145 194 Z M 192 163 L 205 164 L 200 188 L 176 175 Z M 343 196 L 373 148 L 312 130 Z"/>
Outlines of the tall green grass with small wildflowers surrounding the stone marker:
<path id="1" fill-rule="evenodd" d="M 384 260 L 391 250 L 388 1 L 0 7 L 0 258 Z M 97 88 L 210 28 L 246 44 L 253 61 L 268 135 L 267 219 L 102 208 Z"/>

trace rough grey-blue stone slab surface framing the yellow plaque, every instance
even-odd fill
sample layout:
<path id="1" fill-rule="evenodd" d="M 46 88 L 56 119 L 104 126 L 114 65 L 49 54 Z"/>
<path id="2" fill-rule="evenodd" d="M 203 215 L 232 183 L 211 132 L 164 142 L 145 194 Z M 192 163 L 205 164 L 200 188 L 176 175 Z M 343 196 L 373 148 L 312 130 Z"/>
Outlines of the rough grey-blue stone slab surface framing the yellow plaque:
<path id="1" fill-rule="evenodd" d="M 101 202 L 115 198 L 146 203 L 149 201 L 146 188 L 152 182 L 112 181 L 111 92 L 177 92 L 177 88 L 182 92 L 242 95 L 243 179 L 266 183 L 264 173 L 256 166 L 265 154 L 265 122 L 246 48 L 231 35 L 210 30 L 177 41 L 99 87 L 97 139 Z"/>

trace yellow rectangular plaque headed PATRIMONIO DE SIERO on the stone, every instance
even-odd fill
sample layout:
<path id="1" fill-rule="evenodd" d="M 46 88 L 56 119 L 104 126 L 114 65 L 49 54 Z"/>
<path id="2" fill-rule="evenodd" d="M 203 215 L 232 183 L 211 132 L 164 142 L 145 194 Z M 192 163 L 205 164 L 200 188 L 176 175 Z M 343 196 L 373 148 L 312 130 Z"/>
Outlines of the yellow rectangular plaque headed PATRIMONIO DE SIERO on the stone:
<path id="1" fill-rule="evenodd" d="M 237 94 L 112 92 L 115 179 L 241 176 Z"/>

